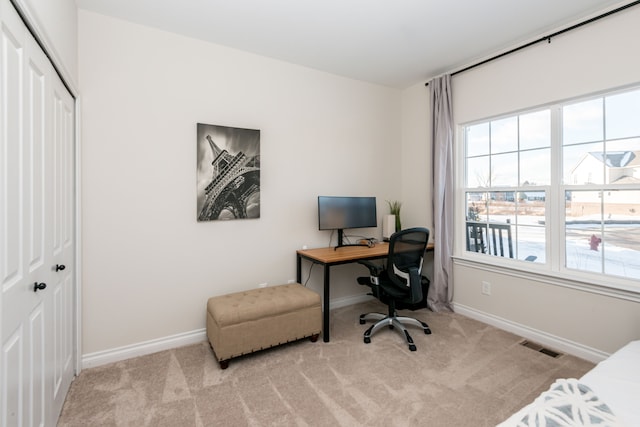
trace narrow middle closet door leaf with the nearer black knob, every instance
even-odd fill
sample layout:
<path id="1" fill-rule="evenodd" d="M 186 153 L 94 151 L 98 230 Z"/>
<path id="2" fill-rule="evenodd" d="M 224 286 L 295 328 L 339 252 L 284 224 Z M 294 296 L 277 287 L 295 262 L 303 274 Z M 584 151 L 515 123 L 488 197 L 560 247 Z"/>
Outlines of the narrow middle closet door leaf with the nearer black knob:
<path id="1" fill-rule="evenodd" d="M 47 388 L 47 363 L 49 351 L 46 337 L 47 325 L 46 291 L 34 291 L 36 283 L 48 283 L 51 276 L 51 227 L 47 224 L 50 203 L 48 184 L 51 150 L 47 146 L 50 124 L 48 99 L 50 98 L 49 78 L 51 65 L 28 33 L 25 34 L 25 81 L 24 81 L 24 200 L 25 216 L 24 241 L 25 264 L 27 269 L 26 293 L 29 294 L 30 313 L 25 318 L 28 327 L 29 377 L 27 399 L 28 421 L 25 425 L 43 426 L 49 410 L 50 393 Z M 31 283 L 33 280 L 33 283 Z M 49 406 L 48 406 L 49 405 Z"/>

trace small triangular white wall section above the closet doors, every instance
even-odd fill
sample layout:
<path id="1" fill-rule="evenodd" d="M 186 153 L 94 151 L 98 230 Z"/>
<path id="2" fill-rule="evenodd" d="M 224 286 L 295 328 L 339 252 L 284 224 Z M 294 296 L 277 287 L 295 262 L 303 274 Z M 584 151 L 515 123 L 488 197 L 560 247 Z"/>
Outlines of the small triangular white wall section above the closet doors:
<path id="1" fill-rule="evenodd" d="M 78 82 L 78 32 L 75 0 L 15 0 L 45 44 L 63 78 Z"/>

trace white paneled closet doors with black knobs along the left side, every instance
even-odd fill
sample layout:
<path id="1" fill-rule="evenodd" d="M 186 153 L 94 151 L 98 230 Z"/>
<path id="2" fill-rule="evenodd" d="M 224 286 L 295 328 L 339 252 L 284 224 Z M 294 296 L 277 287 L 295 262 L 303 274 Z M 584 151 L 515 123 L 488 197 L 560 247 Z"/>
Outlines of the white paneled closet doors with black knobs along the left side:
<path id="1" fill-rule="evenodd" d="M 54 426 L 73 379 L 73 120 L 70 94 L 0 0 L 1 426 Z"/>

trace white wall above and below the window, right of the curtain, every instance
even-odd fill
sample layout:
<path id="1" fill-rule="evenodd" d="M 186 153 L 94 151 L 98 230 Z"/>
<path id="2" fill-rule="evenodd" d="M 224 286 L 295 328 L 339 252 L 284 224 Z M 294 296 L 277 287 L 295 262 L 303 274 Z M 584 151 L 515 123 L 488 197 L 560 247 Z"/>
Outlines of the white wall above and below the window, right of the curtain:
<path id="1" fill-rule="evenodd" d="M 456 75 L 456 123 L 505 114 L 640 82 L 640 8 L 555 37 Z M 481 281 L 492 284 L 481 295 Z M 635 301 L 559 287 L 554 281 L 503 274 L 473 264 L 454 269 L 454 302 L 465 314 L 495 321 L 597 358 L 640 339 Z M 595 357 L 594 357 L 595 356 Z"/>

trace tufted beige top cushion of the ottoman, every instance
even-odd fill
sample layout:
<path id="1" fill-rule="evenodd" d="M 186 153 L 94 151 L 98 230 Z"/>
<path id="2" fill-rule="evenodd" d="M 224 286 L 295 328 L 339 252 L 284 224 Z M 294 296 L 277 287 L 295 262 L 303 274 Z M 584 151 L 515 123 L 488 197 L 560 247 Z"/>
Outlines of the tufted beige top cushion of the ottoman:
<path id="1" fill-rule="evenodd" d="M 320 295 L 299 283 L 268 286 L 209 298 L 207 310 L 220 326 L 320 305 Z"/>

